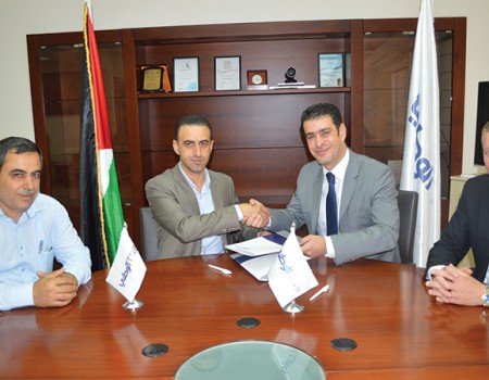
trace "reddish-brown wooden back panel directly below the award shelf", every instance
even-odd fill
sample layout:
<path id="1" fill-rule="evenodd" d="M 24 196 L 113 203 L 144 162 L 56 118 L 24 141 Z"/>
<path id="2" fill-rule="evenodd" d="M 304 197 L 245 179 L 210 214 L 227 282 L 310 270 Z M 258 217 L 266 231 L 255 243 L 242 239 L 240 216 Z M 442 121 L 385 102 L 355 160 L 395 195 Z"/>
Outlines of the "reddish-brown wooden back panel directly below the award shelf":
<path id="1" fill-rule="evenodd" d="M 209 118 L 215 149 L 299 148 L 304 145 L 300 131 L 302 111 L 317 102 L 333 102 L 342 110 L 344 94 L 267 92 L 253 97 L 162 98 L 139 102 L 146 112 L 140 114 L 147 126 L 142 129 L 148 130 L 146 141 L 152 151 L 172 149 L 175 124 L 187 114 Z"/>

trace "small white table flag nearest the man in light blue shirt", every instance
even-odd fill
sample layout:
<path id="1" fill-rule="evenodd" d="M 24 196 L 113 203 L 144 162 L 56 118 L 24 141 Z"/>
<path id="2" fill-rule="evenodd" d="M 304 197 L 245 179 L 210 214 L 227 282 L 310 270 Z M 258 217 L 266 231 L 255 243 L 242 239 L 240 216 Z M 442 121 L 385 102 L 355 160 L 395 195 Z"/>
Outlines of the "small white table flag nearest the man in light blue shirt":
<path id="1" fill-rule="evenodd" d="M 109 270 L 106 282 L 124 295 L 127 301 L 133 302 L 141 288 L 146 270 L 146 264 L 127 232 L 127 225 L 124 225 L 117 254 Z"/>

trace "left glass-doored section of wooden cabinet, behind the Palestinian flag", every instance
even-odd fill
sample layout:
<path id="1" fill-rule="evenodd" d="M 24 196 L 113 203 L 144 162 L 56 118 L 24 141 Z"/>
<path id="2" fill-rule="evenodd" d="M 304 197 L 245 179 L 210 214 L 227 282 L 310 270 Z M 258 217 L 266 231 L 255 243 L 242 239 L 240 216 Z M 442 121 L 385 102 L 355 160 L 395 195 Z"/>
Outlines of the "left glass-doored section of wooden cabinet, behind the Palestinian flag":
<path id="1" fill-rule="evenodd" d="M 63 203 L 79 221 L 79 123 L 83 35 L 27 36 L 36 141 L 43 152 L 41 191 Z M 121 33 L 100 33 L 114 156 L 125 217 L 133 226 L 126 88 Z"/>

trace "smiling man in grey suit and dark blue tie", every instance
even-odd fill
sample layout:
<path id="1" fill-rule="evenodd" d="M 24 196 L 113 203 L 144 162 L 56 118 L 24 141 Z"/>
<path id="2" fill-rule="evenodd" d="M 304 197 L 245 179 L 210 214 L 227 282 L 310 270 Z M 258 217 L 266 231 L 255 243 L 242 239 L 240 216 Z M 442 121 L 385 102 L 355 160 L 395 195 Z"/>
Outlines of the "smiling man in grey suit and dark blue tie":
<path id="1" fill-rule="evenodd" d="M 271 210 L 267 228 L 289 230 L 308 226 L 302 238 L 302 252 L 312 257 L 326 255 L 337 265 L 369 257 L 400 262 L 398 248 L 399 208 L 396 180 L 391 169 L 375 160 L 355 154 L 347 148 L 347 127 L 333 104 L 308 107 L 301 127 L 311 154 L 316 159 L 304 165 L 297 180 L 297 190 L 287 208 Z M 329 190 L 326 176 L 335 178 L 333 212 L 338 228 L 328 231 L 326 214 Z"/>

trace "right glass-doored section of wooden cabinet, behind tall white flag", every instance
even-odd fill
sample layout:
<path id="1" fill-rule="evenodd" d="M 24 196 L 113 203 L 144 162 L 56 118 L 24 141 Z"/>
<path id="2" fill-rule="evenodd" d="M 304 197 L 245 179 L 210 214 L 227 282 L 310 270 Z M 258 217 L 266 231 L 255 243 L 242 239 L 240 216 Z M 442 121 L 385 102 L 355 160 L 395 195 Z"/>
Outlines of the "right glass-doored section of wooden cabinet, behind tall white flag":
<path id="1" fill-rule="evenodd" d="M 365 21 L 363 149 L 366 155 L 385 163 L 403 156 L 415 28 L 415 20 Z M 459 139 L 465 81 L 460 72 L 465 73 L 465 46 L 460 39 L 465 41 L 465 20 L 437 18 L 435 29 L 440 87 L 441 197 L 448 199 L 450 175 L 462 172 Z M 462 103 L 457 104 L 455 99 Z"/>

